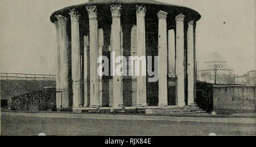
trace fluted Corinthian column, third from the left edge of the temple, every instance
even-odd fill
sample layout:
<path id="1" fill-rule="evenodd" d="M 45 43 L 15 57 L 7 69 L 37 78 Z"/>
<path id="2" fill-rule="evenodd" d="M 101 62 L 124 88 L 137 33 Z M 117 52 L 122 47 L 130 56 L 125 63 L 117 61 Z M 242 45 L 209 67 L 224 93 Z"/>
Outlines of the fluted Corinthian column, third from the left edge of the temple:
<path id="1" fill-rule="evenodd" d="M 71 16 L 71 55 L 72 55 L 72 81 L 73 81 L 73 107 L 81 105 L 81 58 L 79 40 L 79 17 L 75 10 L 69 13 Z"/>

